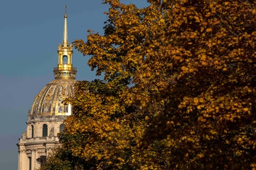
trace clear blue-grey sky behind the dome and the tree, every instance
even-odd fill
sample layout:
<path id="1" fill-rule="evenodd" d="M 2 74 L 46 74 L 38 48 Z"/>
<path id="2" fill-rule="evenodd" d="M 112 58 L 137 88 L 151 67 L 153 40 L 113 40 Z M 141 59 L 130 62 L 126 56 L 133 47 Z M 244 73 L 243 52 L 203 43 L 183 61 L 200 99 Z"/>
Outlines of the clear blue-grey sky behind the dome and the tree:
<path id="1" fill-rule="evenodd" d="M 146 0 L 121 0 L 137 7 Z M 0 170 L 17 170 L 16 143 L 26 130 L 34 96 L 54 79 L 57 46 L 62 42 L 64 5 L 68 6 L 68 40 L 86 40 L 87 30 L 103 33 L 108 5 L 101 0 L 3 0 L 0 2 Z M 74 49 L 77 80 L 95 72 Z"/>

